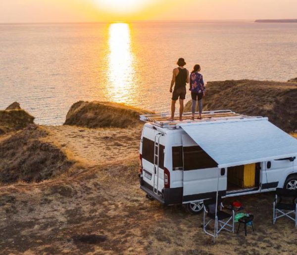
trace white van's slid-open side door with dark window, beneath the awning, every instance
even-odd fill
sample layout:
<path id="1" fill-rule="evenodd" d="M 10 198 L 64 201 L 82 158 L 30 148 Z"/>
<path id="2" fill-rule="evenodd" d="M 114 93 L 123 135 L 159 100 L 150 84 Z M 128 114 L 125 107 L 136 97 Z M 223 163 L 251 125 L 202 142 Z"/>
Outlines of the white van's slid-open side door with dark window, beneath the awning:
<path id="1" fill-rule="evenodd" d="M 219 169 L 217 163 L 192 140 L 183 137 L 183 203 L 212 198 L 219 193 L 224 196 L 227 189 L 227 170 Z"/>

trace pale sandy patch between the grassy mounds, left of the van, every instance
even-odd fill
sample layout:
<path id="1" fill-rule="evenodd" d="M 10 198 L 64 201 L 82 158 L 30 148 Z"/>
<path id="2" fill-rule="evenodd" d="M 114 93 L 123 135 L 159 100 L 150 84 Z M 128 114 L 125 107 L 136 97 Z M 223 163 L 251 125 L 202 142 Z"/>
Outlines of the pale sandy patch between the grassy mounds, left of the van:
<path id="1" fill-rule="evenodd" d="M 71 156 L 91 164 L 112 163 L 137 157 L 142 125 L 134 128 L 89 129 L 73 126 L 42 126 L 49 132 L 47 141 L 59 144 Z"/>

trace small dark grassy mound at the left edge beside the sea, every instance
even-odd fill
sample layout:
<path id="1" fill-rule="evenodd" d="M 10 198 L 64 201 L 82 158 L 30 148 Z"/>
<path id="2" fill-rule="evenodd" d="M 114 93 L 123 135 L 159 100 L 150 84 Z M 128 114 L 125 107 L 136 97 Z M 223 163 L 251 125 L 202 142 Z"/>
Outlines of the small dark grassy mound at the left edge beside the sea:
<path id="1" fill-rule="evenodd" d="M 24 110 L 0 110 L 0 135 L 34 123 L 34 117 Z"/>

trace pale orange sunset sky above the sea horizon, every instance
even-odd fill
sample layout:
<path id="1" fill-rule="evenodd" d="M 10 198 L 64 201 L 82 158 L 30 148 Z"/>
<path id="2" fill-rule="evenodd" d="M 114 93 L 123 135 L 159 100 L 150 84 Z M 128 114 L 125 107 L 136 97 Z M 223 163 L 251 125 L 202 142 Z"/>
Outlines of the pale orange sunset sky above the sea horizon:
<path id="1" fill-rule="evenodd" d="M 297 18 L 297 0 L 0 0 L 0 23 Z"/>

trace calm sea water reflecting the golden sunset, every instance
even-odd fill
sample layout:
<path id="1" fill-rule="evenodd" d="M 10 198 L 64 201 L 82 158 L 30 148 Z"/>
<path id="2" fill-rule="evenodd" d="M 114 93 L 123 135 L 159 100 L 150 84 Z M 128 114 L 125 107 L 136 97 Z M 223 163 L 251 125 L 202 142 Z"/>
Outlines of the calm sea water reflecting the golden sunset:
<path id="1" fill-rule="evenodd" d="M 205 82 L 287 81 L 297 23 L 0 24 L 0 109 L 18 101 L 47 125 L 78 100 L 168 111 L 179 57 L 190 71 L 200 64 Z"/>

